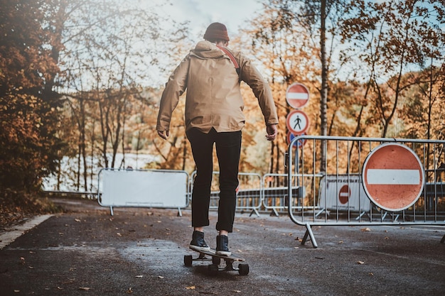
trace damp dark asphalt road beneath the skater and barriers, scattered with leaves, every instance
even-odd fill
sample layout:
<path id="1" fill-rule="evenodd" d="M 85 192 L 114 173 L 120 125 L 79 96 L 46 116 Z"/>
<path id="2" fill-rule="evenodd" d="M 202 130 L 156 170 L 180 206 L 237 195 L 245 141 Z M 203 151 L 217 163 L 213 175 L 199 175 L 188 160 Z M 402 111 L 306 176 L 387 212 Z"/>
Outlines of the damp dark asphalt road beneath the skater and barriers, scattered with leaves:
<path id="1" fill-rule="evenodd" d="M 316 227 L 313 248 L 288 216 L 237 214 L 230 248 L 250 273 L 211 276 L 209 263 L 183 263 L 196 255 L 188 210 L 110 216 L 97 202 L 55 202 L 69 212 L 11 243 L 14 229 L 0 234 L 0 295 L 445 295 L 445 227 Z M 212 247 L 215 219 L 205 234 Z"/>

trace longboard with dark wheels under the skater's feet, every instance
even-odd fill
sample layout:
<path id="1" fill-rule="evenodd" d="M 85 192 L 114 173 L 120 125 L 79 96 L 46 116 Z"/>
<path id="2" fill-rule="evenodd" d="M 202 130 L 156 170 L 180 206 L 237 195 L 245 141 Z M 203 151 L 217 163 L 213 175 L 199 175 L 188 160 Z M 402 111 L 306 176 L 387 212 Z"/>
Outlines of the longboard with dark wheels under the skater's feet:
<path id="1" fill-rule="evenodd" d="M 195 250 L 193 250 L 195 251 Z M 186 266 L 193 265 L 193 261 L 212 261 L 212 264 L 208 265 L 208 272 L 210 275 L 216 275 L 218 271 L 232 271 L 237 270 L 240 275 L 247 275 L 249 273 L 249 264 L 239 263 L 237 267 L 233 266 L 233 263 L 244 262 L 244 258 L 240 258 L 232 253 L 230 256 L 223 256 L 216 254 L 215 249 L 210 251 L 195 251 L 199 253 L 198 258 L 193 258 L 191 255 L 184 256 L 184 264 Z M 207 256 L 210 256 L 207 257 Z M 221 265 L 222 259 L 225 261 L 225 266 Z"/>

